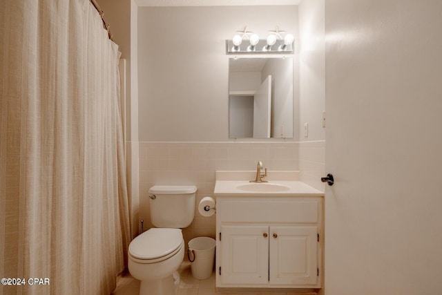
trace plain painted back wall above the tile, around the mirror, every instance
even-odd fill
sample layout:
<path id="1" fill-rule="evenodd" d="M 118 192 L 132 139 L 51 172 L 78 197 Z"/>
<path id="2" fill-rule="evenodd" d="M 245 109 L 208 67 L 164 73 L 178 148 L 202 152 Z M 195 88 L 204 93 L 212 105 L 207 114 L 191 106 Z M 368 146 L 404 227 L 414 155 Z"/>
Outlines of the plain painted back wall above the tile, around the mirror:
<path id="1" fill-rule="evenodd" d="M 229 141 L 225 40 L 244 26 L 298 38 L 297 6 L 144 7 L 138 19 L 140 141 Z"/>

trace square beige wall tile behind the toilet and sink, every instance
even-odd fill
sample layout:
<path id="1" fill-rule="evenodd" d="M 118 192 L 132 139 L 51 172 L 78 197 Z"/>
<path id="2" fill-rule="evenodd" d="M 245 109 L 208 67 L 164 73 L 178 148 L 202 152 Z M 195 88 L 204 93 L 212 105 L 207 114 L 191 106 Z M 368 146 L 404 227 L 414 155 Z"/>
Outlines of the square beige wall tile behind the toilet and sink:
<path id="1" fill-rule="evenodd" d="M 321 145 L 299 142 L 140 142 L 140 220 L 144 220 L 145 230 L 152 227 L 148 208 L 150 187 L 155 184 L 193 184 L 198 188 L 195 218 L 183 229 L 184 240 L 187 245 L 197 236 L 214 238 L 215 215 L 204 218 L 197 207 L 204 196 L 213 197 L 215 171 L 253 171 L 258 160 L 268 170 L 298 171 L 302 164 L 306 173 L 301 173 L 301 179 L 314 186 L 314 177 L 324 166 Z"/>

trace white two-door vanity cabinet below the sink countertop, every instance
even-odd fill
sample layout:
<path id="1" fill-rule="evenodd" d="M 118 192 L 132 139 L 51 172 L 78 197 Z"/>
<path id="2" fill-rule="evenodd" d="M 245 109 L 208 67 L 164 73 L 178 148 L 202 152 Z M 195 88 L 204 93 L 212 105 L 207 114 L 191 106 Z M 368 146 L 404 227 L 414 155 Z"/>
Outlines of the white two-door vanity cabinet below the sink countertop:
<path id="1" fill-rule="evenodd" d="M 320 288 L 322 197 L 217 196 L 216 286 Z"/>

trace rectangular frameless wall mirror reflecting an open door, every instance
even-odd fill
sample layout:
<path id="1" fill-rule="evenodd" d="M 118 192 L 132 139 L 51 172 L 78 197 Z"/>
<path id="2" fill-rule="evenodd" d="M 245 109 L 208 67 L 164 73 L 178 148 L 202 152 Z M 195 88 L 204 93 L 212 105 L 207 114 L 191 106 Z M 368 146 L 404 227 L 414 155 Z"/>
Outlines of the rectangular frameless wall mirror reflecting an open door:
<path id="1" fill-rule="evenodd" d="M 229 137 L 293 137 L 293 58 L 229 59 Z"/>

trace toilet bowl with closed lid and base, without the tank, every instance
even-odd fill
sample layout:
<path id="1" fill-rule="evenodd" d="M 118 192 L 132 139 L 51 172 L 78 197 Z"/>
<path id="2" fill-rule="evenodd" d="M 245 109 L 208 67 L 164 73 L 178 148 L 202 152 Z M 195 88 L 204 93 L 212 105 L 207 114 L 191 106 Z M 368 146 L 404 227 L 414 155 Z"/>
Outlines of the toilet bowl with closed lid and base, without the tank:
<path id="1" fill-rule="evenodd" d="M 184 258 L 181 229 L 149 229 L 129 245 L 128 268 L 141 280 L 141 295 L 177 293 L 177 269 Z M 175 274 L 174 274 L 175 273 Z"/>

